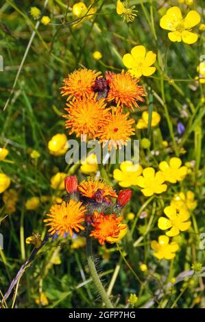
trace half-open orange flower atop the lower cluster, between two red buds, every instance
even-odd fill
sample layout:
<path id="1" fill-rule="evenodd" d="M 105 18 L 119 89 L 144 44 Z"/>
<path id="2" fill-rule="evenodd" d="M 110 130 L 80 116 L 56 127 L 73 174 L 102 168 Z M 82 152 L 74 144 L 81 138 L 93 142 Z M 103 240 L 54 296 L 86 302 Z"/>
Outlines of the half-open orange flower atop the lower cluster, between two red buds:
<path id="1" fill-rule="evenodd" d="M 78 190 L 84 197 L 95 199 L 99 203 L 103 200 L 108 201 L 108 197 L 117 198 L 117 193 L 112 187 L 107 186 L 103 181 L 95 181 L 92 178 L 82 181 L 78 185 Z"/>

